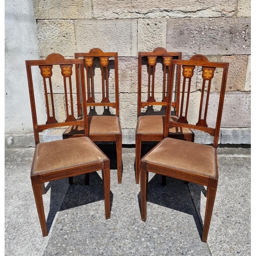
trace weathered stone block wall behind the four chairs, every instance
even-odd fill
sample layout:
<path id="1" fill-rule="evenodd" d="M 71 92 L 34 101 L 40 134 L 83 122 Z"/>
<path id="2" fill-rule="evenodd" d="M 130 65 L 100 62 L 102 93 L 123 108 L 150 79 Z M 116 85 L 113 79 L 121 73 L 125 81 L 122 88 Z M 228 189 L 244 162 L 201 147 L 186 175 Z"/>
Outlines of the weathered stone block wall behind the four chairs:
<path id="1" fill-rule="evenodd" d="M 135 143 L 139 51 L 229 62 L 220 143 L 250 144 L 249 0 L 33 0 L 39 57 L 118 52 L 123 144 Z M 29 59 L 29 57 L 28 57 Z M 219 88 L 213 93 L 218 95 Z M 195 97 L 196 98 L 196 97 Z M 31 130 L 32 131 L 32 130 Z M 222 140 L 223 136 L 223 140 Z"/>

